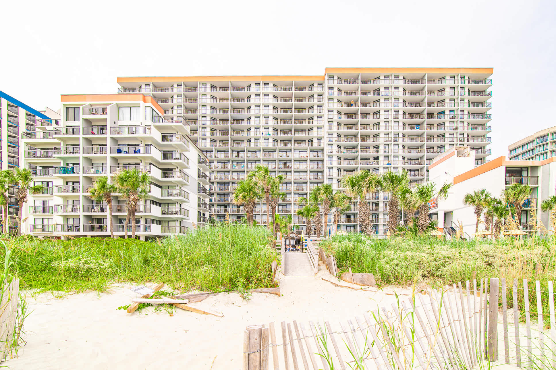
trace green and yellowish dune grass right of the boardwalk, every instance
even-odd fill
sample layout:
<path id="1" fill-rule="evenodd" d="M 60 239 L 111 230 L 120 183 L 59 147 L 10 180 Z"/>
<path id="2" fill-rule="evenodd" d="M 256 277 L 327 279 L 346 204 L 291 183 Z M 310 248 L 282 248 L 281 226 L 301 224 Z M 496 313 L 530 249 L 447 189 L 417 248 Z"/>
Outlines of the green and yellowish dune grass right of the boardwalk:
<path id="1" fill-rule="evenodd" d="M 523 310 L 523 279 L 529 280 L 529 305 L 536 316 L 534 281 L 540 281 L 545 322 L 548 324 L 548 281 L 556 280 L 556 239 L 444 240 L 431 236 L 367 238 L 336 235 L 320 244 L 333 253 L 338 268 L 378 275 L 379 284 L 451 285 L 481 278 L 505 278 L 507 300 L 513 303 L 513 280 L 518 279 L 518 303 Z M 540 265 L 542 273 L 537 272 Z M 475 273 L 475 275 L 473 274 Z M 502 302 L 502 295 L 500 295 Z"/>

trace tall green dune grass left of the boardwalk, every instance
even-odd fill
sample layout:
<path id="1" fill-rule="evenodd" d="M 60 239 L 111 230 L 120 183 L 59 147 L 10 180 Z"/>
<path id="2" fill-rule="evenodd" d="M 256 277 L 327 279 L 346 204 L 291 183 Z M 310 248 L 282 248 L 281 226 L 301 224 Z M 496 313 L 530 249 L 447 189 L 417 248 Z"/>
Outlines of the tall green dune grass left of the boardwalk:
<path id="1" fill-rule="evenodd" d="M 110 238 L 7 241 L 22 289 L 103 291 L 117 282 L 161 282 L 209 292 L 274 287 L 271 233 L 245 225 L 206 226 L 157 241 Z"/>

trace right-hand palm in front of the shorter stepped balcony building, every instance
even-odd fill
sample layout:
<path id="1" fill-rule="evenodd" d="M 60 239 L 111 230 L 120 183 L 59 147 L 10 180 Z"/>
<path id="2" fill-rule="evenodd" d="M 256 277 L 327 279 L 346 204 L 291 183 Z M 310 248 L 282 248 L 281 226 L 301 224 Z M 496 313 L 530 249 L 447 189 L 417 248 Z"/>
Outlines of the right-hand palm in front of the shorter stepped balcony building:
<path id="1" fill-rule="evenodd" d="M 148 186 L 151 184 L 151 175 L 138 169 L 123 170 L 116 175 L 118 191 L 127 198 L 127 216 L 123 224 L 123 233 L 127 238 L 127 226 L 131 218 L 131 238 L 135 238 L 135 209 L 141 199 L 148 195 Z"/>

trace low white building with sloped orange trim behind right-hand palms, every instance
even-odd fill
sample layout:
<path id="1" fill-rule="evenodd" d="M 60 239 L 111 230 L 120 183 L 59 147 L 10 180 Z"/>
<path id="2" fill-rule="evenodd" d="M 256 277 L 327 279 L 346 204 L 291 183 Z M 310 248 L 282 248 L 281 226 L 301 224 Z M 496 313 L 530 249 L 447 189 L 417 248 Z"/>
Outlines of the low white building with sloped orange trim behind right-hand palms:
<path id="1" fill-rule="evenodd" d="M 475 153 L 469 147 L 455 147 L 436 157 L 429 166 L 430 180 L 437 186 L 444 182 L 454 184 L 448 199 L 439 202 L 434 199 L 431 202 L 431 217 L 439 220 L 439 228 L 456 229 L 461 221 L 464 231 L 472 237 L 476 217 L 474 208 L 463 204 L 465 194 L 484 188 L 493 196 L 500 197 L 504 189 L 515 183 L 527 184 L 532 188 L 520 215 L 522 229 L 532 229 L 532 209 L 537 212 L 545 228 L 549 228 L 549 215 L 542 213 L 539 205 L 542 200 L 556 194 L 556 157 L 542 161 L 509 161 L 502 156 L 478 167 L 474 161 Z M 479 225 L 479 229 L 483 230 L 484 226 L 484 223 Z"/>

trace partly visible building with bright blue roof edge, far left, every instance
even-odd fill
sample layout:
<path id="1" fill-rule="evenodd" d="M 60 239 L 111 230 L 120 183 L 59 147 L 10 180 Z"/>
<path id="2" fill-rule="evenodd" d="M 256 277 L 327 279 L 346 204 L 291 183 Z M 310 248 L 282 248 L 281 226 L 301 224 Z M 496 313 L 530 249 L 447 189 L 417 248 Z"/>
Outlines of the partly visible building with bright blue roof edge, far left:
<path id="1" fill-rule="evenodd" d="M 49 110 L 49 113 L 52 112 Z M 7 93 L 0 91 L 0 163 L 1 169 L 15 169 L 20 166 L 23 158 L 19 134 L 25 130 L 35 130 L 36 126 L 56 124 L 57 114 L 45 115 L 45 112 L 37 111 L 22 103 Z M 8 215 L 9 225 L 16 226 L 19 207 L 16 200 L 17 187 L 12 186 L 8 191 Z M 3 208 L 0 207 L 2 219 Z"/>

